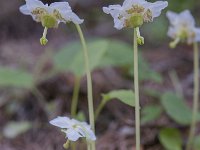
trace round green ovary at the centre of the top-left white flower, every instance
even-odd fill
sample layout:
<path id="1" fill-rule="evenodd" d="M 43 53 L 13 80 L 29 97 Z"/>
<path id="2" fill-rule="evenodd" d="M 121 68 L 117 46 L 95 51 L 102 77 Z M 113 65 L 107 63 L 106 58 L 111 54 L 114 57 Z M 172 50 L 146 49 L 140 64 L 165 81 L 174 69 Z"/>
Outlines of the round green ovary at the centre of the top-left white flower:
<path id="1" fill-rule="evenodd" d="M 55 28 L 58 26 L 56 18 L 52 15 L 43 15 L 41 22 L 42 26 L 47 28 Z"/>

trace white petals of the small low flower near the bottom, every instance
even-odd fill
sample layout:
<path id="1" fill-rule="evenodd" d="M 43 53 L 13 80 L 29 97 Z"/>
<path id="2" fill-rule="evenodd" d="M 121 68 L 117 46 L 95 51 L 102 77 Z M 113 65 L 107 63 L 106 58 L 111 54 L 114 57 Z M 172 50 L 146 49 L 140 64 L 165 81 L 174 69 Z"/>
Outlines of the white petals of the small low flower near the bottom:
<path id="1" fill-rule="evenodd" d="M 50 124 L 60 127 L 70 141 L 77 141 L 81 137 L 85 137 L 88 141 L 96 140 L 94 132 L 86 122 L 80 122 L 68 117 L 57 117 L 51 120 Z"/>

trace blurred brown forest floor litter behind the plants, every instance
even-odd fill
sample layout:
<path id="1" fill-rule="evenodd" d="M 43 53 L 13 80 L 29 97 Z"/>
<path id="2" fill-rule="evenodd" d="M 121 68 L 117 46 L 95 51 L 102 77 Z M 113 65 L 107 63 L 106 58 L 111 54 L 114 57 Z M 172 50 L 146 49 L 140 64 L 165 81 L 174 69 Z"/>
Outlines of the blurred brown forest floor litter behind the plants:
<path id="1" fill-rule="evenodd" d="M 55 37 L 55 36 L 54 36 Z M 63 38 L 55 38 L 59 45 Z M 16 65 L 23 56 L 23 63 L 30 68 L 37 61 L 38 55 L 42 53 L 41 47 L 32 39 L 24 41 L 8 41 L 1 44 L 1 63 L 6 65 Z M 31 43 L 28 44 L 28 43 Z M 52 47 L 52 45 L 50 45 Z M 56 47 L 56 46 L 55 46 Z M 25 51 L 32 49 L 32 51 Z M 154 50 L 144 50 L 143 56 L 153 70 L 161 73 L 164 78 L 162 84 L 145 81 L 141 83 L 140 95 L 141 106 L 154 103 L 154 98 L 143 95 L 145 87 L 153 88 L 159 92 L 174 91 L 174 87 L 169 78 L 169 71 L 176 70 L 180 83 L 183 87 L 188 105 L 191 105 L 192 91 L 192 50 L 191 47 L 180 47 L 176 50 L 170 50 L 167 46 L 156 48 Z M 14 53 L 17 51 L 17 53 Z M 15 55 L 13 55 L 15 54 Z M 23 56 L 21 56 L 23 54 Z M 30 69 L 31 70 L 31 69 Z M 92 74 L 95 106 L 100 101 L 100 95 L 113 89 L 130 89 L 132 88 L 132 79 L 126 79 L 120 74 L 118 68 L 106 68 L 96 70 Z M 73 91 L 74 78 L 71 74 L 60 74 L 38 84 L 38 88 L 43 94 L 46 102 L 56 102 L 57 112 L 52 112 L 47 117 L 43 108 L 37 102 L 37 98 L 27 92 L 20 101 L 20 110 L 16 114 L 8 114 L 6 104 L 0 105 L 0 130 L 10 120 L 29 120 L 33 127 L 26 133 L 14 138 L 6 139 L 0 136 L 1 150 L 61 150 L 65 142 L 64 134 L 57 128 L 51 126 L 48 121 L 56 115 L 69 115 L 71 102 L 71 94 Z M 66 84 L 67 83 L 67 84 Z M 87 114 L 86 101 L 86 81 L 81 81 L 80 104 L 78 109 L 83 110 Z M 7 90 L 9 92 L 9 90 Z M 9 101 L 9 99 L 8 99 Z M 11 103 L 10 101 L 8 103 Z M 103 109 L 99 119 L 97 120 L 97 150 L 134 150 L 134 109 L 121 105 L 118 101 L 109 102 Z M 158 132 L 162 127 L 176 127 L 187 134 L 188 128 L 174 123 L 162 114 L 159 119 L 141 126 L 141 149 L 142 150 L 163 150 L 159 144 Z M 79 142 L 78 148 L 84 150 L 85 145 Z"/>

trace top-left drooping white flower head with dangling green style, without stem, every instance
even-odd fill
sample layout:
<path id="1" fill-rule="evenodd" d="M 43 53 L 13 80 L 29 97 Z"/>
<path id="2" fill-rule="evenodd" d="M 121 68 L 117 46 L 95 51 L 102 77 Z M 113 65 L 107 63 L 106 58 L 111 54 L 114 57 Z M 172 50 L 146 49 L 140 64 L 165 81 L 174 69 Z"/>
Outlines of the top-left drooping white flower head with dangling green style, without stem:
<path id="1" fill-rule="evenodd" d="M 68 2 L 55 2 L 48 5 L 43 4 L 39 0 L 26 0 L 26 4 L 19 9 L 23 14 L 31 15 L 36 22 L 42 23 L 45 30 L 43 39 L 41 38 L 41 40 L 44 41 L 46 39 L 47 29 L 58 27 L 60 22 L 73 22 L 75 24 L 81 24 L 83 22 L 82 19 L 72 12 Z"/>

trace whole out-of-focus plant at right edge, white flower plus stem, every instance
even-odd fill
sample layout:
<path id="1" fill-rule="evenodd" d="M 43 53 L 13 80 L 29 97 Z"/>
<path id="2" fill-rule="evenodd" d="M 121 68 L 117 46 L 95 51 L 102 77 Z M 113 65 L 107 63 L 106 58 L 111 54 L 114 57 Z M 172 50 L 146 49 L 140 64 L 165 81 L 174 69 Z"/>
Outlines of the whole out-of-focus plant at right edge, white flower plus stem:
<path id="1" fill-rule="evenodd" d="M 196 119 L 199 105 L 199 52 L 198 43 L 200 41 L 200 28 L 195 27 L 195 20 L 189 10 L 180 14 L 168 11 L 167 17 L 170 21 L 168 36 L 174 41 L 170 43 L 171 48 L 175 48 L 179 42 L 193 44 L 194 48 L 194 93 L 193 93 L 193 113 L 190 126 L 189 139 L 186 150 L 191 150 L 196 130 Z"/>

